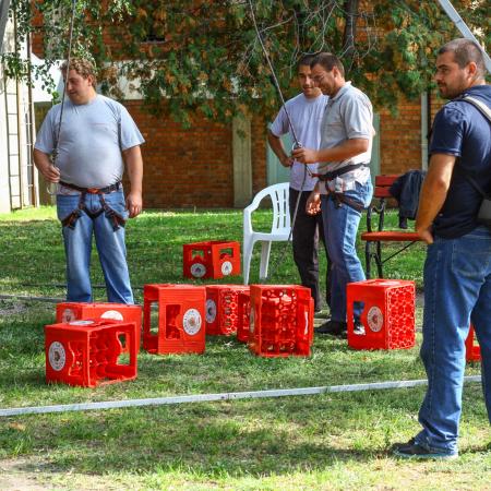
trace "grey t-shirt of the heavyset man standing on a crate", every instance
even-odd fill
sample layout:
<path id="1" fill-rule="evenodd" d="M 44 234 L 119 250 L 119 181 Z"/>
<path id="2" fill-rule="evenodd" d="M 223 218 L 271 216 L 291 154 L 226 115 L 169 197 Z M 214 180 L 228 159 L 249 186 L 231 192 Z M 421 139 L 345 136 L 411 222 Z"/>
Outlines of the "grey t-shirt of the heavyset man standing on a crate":
<path id="1" fill-rule="evenodd" d="M 34 147 L 52 154 L 61 104 L 47 113 Z M 57 167 L 61 181 L 82 188 L 104 188 L 121 180 L 121 151 L 144 143 L 136 124 L 121 104 L 97 94 L 88 104 L 64 103 Z"/>

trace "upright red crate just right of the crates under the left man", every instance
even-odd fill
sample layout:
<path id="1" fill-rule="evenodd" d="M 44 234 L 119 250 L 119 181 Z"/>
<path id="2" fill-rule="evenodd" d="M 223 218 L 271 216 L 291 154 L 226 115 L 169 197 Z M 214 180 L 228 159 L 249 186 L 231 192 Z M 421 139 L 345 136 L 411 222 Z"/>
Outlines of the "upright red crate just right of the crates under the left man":
<path id="1" fill-rule="evenodd" d="M 203 352 L 205 301 L 204 286 L 145 285 L 143 348 L 157 355 Z"/>

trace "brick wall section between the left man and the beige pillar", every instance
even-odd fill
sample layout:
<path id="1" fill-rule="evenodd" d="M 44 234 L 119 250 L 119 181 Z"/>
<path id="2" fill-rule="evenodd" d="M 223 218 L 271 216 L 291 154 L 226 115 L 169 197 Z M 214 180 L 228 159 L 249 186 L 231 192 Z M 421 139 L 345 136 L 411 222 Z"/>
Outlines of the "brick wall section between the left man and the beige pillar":
<path id="1" fill-rule="evenodd" d="M 231 124 L 195 117 L 187 130 L 168 117 L 146 113 L 137 100 L 125 106 L 146 141 L 146 207 L 232 206 Z"/>

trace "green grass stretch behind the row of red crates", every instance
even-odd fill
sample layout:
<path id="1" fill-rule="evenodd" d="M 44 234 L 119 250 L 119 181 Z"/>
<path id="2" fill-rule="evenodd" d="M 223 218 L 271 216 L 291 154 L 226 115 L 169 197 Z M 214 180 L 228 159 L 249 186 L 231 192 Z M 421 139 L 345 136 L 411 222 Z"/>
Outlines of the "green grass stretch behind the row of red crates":
<path id="1" fill-rule="evenodd" d="M 266 230 L 271 213 L 259 209 L 253 215 L 254 229 Z M 397 215 L 387 214 L 387 228 L 396 226 Z M 147 283 L 182 283 L 182 244 L 202 240 L 242 241 L 242 215 L 239 211 L 146 212 L 127 227 L 128 262 L 132 284 L 137 288 Z M 364 229 L 362 220 L 360 232 Z M 364 264 L 363 243 L 358 241 L 359 256 Z M 384 247 L 391 255 L 396 246 Z M 0 215 L 0 288 L 4 294 L 63 296 L 64 252 L 61 231 L 52 207 L 40 211 L 26 209 Z M 256 244 L 251 266 L 251 283 L 259 280 L 261 247 Z M 385 275 L 392 278 L 415 279 L 422 287 L 424 247 L 412 246 L 385 265 Z M 104 285 L 97 253 L 93 253 L 93 284 Z M 321 254 L 321 268 L 325 258 Z M 273 243 L 270 260 L 270 283 L 298 283 L 299 276 L 291 256 L 291 246 Z M 232 278 L 240 283 L 241 277 Z M 230 282 L 225 278 L 221 283 Z M 219 282 L 218 282 L 219 283 Z M 323 286 L 323 285 L 322 285 Z M 324 287 L 324 286 L 323 286 Z M 97 299 L 104 299 L 104 290 L 96 288 Z"/>

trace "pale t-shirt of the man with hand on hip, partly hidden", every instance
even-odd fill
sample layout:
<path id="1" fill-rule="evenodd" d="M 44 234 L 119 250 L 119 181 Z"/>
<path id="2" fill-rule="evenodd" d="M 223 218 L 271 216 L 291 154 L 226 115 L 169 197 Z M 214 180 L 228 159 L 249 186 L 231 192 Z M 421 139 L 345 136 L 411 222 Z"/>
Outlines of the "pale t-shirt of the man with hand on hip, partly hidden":
<path id="1" fill-rule="evenodd" d="M 299 94 L 286 101 L 286 108 L 290 116 L 291 124 L 294 124 L 295 133 L 306 148 L 319 149 L 321 145 L 321 121 L 327 100 L 328 97 L 325 95 L 310 99 L 303 94 Z M 286 133 L 290 133 L 291 135 L 291 129 L 288 124 L 288 118 L 284 108 L 282 108 L 273 121 L 271 132 L 275 136 L 282 136 Z M 286 148 L 286 151 L 288 153 L 289 148 Z M 290 169 L 290 185 L 297 191 L 312 191 L 318 181 L 318 178 L 312 178 L 307 173 L 303 189 L 301 188 L 304 167 L 303 164 L 294 161 Z M 310 164 L 308 167 L 314 173 L 318 171 L 318 164 Z"/>

